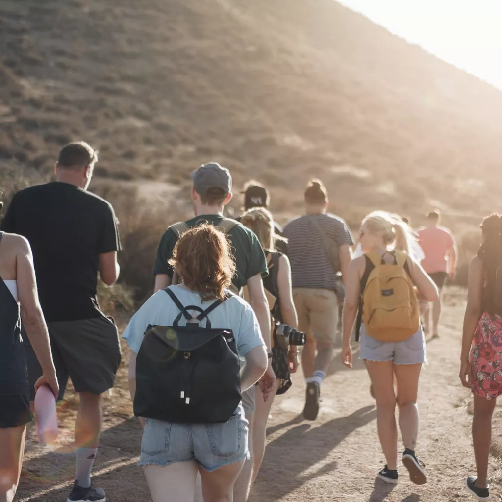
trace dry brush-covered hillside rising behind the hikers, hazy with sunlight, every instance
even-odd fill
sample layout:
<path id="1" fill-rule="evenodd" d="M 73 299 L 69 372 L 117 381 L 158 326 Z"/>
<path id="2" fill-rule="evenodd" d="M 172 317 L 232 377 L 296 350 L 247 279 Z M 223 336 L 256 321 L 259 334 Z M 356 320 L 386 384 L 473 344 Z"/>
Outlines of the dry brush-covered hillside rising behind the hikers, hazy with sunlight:
<path id="1" fill-rule="evenodd" d="M 0 168 L 85 139 L 101 177 L 216 159 L 284 213 L 312 176 L 354 218 L 499 207 L 502 93 L 332 0 L 3 2 L 0 32 Z"/>

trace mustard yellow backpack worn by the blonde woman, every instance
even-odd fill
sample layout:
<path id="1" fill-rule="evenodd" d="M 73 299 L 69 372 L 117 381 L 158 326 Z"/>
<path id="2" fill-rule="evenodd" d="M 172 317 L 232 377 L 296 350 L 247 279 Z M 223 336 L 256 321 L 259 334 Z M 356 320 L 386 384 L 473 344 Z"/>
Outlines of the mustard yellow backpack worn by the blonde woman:
<path id="1" fill-rule="evenodd" d="M 417 295 L 406 255 L 393 252 L 394 264 L 386 264 L 378 253 L 368 253 L 373 265 L 362 292 L 362 319 L 366 333 L 384 342 L 399 342 L 420 327 Z"/>

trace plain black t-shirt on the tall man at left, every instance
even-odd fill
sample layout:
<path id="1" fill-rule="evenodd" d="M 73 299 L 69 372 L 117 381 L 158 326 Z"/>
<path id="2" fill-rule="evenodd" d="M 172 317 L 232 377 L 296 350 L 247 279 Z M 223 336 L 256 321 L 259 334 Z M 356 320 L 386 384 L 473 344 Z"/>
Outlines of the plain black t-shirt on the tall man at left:
<path id="1" fill-rule="evenodd" d="M 117 219 L 106 200 L 66 183 L 26 188 L 12 199 L 1 228 L 30 241 L 47 321 L 102 315 L 98 257 L 120 250 Z"/>

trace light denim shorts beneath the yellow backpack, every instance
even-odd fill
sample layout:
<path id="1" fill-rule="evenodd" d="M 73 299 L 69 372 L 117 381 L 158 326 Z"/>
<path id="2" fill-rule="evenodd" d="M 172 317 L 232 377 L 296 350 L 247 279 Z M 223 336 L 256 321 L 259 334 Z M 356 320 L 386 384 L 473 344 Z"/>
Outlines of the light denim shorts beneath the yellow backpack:
<path id="1" fill-rule="evenodd" d="M 361 326 L 359 359 L 368 361 L 393 361 L 394 364 L 422 364 L 427 362 L 425 338 L 420 329 L 401 342 L 383 342 L 372 338 Z"/>

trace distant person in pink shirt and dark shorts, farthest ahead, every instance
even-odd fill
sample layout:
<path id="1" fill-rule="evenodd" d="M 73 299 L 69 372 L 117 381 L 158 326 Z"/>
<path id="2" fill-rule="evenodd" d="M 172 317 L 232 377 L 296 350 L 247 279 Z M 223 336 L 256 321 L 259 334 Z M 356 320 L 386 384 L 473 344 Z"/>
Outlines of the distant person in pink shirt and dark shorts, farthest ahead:
<path id="1" fill-rule="evenodd" d="M 424 252 L 425 258 L 422 260 L 422 267 L 429 274 L 431 279 L 439 288 L 439 298 L 434 302 L 432 308 L 432 336 L 437 338 L 439 318 L 441 316 L 441 290 L 445 280 L 455 276 L 456 247 L 450 230 L 441 226 L 440 214 L 438 211 L 430 212 L 427 215 L 427 224 L 418 230 L 419 242 Z M 430 309 L 424 314 L 424 329 L 430 332 Z"/>

